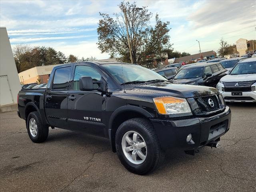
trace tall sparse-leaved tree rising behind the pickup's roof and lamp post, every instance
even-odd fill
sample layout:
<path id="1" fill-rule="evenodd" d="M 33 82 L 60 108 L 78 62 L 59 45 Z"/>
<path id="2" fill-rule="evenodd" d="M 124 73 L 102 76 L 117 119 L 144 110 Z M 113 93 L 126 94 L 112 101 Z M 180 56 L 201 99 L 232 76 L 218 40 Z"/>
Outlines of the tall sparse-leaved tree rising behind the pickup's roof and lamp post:
<path id="1" fill-rule="evenodd" d="M 114 17 L 100 13 L 98 48 L 102 53 L 110 54 L 110 57 L 120 58 L 123 62 L 130 62 L 130 53 L 127 40 L 124 12 L 128 17 L 128 32 L 130 34 L 132 58 L 134 62 L 144 62 L 148 58 L 154 58 L 162 52 L 163 48 L 169 48 L 168 28 L 169 22 L 162 22 L 156 14 L 156 24 L 150 26 L 152 13 L 146 7 L 137 10 L 136 2 L 122 2 L 119 4 L 120 13 L 114 13 Z"/>

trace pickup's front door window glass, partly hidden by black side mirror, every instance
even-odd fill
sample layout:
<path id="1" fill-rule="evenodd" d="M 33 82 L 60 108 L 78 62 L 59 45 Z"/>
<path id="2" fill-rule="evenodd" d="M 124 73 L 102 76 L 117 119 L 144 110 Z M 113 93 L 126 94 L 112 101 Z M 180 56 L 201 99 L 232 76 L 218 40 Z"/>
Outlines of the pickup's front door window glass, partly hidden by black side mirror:
<path id="1" fill-rule="evenodd" d="M 91 77 L 94 81 L 99 81 L 101 75 L 94 68 L 89 66 L 76 66 L 73 82 L 73 90 L 79 90 L 80 77 Z M 96 85 L 96 84 L 95 84 Z"/>

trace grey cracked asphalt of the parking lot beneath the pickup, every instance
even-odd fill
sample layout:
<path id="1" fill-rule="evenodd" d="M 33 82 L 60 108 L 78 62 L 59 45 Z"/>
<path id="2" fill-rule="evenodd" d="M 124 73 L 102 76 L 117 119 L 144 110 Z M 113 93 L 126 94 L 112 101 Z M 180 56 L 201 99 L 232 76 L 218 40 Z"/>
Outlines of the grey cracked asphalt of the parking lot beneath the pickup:
<path id="1" fill-rule="evenodd" d="M 128 172 L 107 139 L 55 128 L 33 143 L 16 112 L 0 114 L 1 192 L 255 192 L 256 105 L 229 104 L 230 131 L 221 148 L 195 156 L 170 151 L 146 176 Z"/>

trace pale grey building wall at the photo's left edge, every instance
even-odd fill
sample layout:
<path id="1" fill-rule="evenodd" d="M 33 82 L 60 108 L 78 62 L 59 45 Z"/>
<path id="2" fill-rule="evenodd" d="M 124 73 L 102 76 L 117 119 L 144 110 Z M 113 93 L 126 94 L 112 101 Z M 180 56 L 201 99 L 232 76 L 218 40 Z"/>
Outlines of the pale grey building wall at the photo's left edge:
<path id="1" fill-rule="evenodd" d="M 5 27 L 0 28 L 0 84 L 0 105 L 16 103 L 21 86 Z"/>

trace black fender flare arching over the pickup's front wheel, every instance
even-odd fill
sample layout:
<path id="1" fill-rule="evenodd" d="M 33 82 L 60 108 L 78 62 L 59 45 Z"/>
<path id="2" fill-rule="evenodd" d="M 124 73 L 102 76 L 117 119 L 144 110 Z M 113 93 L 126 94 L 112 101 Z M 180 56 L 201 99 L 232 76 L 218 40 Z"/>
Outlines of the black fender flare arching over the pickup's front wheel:
<path id="1" fill-rule="evenodd" d="M 108 136 L 113 152 L 116 152 L 115 136 L 120 124 L 128 119 L 138 117 L 152 118 L 153 115 L 138 106 L 122 106 L 113 112 L 108 123 Z"/>

